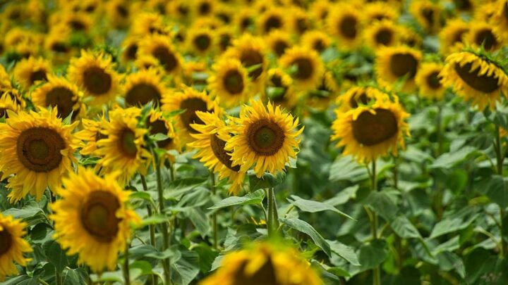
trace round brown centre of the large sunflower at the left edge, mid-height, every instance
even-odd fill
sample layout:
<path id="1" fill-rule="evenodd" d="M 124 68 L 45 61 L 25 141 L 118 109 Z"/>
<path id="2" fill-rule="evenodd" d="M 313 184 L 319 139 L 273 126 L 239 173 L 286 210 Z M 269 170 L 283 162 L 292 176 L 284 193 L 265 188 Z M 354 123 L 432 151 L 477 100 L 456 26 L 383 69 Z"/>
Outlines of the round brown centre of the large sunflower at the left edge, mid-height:
<path id="1" fill-rule="evenodd" d="M 59 167 L 60 151 L 64 148 L 66 145 L 60 134 L 47 127 L 25 129 L 16 141 L 18 160 L 35 172 L 50 172 Z"/>

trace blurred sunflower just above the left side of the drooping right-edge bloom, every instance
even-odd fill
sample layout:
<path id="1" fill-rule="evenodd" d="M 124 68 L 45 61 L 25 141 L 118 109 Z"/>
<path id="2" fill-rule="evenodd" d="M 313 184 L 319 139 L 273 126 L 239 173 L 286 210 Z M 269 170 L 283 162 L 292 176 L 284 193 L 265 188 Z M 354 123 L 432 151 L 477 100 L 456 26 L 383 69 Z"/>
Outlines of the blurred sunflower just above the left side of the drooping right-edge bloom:
<path id="1" fill-rule="evenodd" d="M 440 50 L 443 55 L 460 51 L 464 46 L 464 34 L 469 30 L 469 24 L 458 18 L 449 20 L 442 28 L 440 37 Z"/>

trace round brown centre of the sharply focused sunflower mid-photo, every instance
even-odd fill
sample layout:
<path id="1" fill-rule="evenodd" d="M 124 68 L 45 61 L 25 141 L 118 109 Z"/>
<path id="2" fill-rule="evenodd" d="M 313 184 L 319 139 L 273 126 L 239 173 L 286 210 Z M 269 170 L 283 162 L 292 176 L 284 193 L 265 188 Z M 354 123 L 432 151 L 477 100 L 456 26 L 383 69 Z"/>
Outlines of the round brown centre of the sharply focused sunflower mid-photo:
<path id="1" fill-rule="evenodd" d="M 267 119 L 253 122 L 247 130 L 248 145 L 258 156 L 272 156 L 284 146 L 284 129 Z"/>

